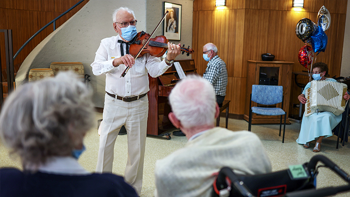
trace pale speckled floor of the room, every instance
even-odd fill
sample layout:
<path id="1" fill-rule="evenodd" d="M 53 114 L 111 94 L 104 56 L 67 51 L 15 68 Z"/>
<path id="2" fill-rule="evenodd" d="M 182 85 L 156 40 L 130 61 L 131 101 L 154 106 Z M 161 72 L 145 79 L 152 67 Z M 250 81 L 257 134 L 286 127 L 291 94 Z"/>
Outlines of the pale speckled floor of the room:
<path id="1" fill-rule="evenodd" d="M 97 114 L 96 120 L 101 119 L 102 114 Z M 96 121 L 97 122 L 97 121 Z M 225 119 L 221 118 L 220 126 L 225 126 Z M 229 119 L 228 129 L 232 131 L 246 130 L 248 123 L 244 120 Z M 320 153 L 312 152 L 312 148 L 304 149 L 295 141 L 298 137 L 300 124 L 291 123 L 286 125 L 285 142 L 279 136 L 279 125 L 252 125 L 252 132 L 256 133 L 262 140 L 263 145 L 271 159 L 273 171 L 288 168 L 290 164 L 302 164 L 310 161 L 311 157 L 322 154 L 330 158 L 339 167 L 350 174 L 350 143 L 335 149 L 336 136 L 324 139 Z M 283 128 L 282 128 L 283 129 Z M 119 136 L 115 144 L 115 155 L 113 173 L 123 176 L 127 158 L 127 136 Z M 155 190 L 154 166 L 158 159 L 161 159 L 174 152 L 186 143 L 186 137 L 173 136 L 171 140 L 147 137 L 146 153 L 143 175 L 143 187 L 141 197 L 153 197 Z M 249 142 L 246 142 L 249 143 Z M 99 136 L 94 127 L 85 138 L 87 150 L 82 154 L 79 163 L 88 171 L 94 172 L 97 161 Z M 314 143 L 311 144 L 314 146 Z M 15 166 L 20 168 L 19 161 L 13 161 L 8 156 L 8 151 L 0 144 L 0 167 Z M 171 171 L 171 169 L 169 169 Z M 335 175 L 332 171 L 321 168 L 317 176 L 317 187 L 344 185 L 346 182 Z M 349 193 L 338 194 L 337 197 L 348 197 Z"/>

